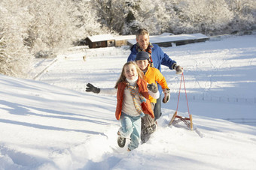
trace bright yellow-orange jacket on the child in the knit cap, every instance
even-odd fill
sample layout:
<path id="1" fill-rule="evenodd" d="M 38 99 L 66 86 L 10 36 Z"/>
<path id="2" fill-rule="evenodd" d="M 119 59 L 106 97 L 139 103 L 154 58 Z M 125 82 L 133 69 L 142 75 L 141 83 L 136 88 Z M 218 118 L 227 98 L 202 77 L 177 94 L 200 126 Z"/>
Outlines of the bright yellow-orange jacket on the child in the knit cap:
<path id="1" fill-rule="evenodd" d="M 160 73 L 160 70 L 154 67 L 150 67 L 149 64 L 148 64 L 148 70 L 145 73 L 144 79 L 146 80 L 146 82 L 148 82 L 148 84 L 151 84 L 154 82 L 157 85 L 156 82 L 158 82 L 158 84 L 162 87 L 162 89 L 168 88 L 166 79 L 164 78 L 163 74 Z M 157 99 L 154 99 L 151 96 L 149 96 L 149 100 L 151 101 L 151 103 L 157 103 Z"/>

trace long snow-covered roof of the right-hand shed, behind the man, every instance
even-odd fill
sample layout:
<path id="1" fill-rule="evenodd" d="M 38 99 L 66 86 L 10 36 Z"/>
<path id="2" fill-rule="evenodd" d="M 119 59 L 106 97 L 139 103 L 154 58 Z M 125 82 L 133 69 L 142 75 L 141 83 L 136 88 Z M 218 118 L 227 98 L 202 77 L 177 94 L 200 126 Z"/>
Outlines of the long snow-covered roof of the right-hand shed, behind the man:
<path id="1" fill-rule="evenodd" d="M 160 36 L 149 36 L 149 41 L 151 43 L 166 43 L 166 42 L 173 42 L 178 40 L 198 40 L 209 38 L 204 34 L 197 33 L 197 34 L 178 34 L 178 35 L 160 35 Z M 128 40 L 129 43 L 136 43 L 136 39 Z"/>

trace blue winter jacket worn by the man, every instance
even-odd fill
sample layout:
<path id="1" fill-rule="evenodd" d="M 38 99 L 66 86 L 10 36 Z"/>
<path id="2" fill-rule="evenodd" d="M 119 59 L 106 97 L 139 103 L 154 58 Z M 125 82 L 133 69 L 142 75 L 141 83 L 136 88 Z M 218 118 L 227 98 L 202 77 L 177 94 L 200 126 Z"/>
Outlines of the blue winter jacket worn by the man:
<path id="1" fill-rule="evenodd" d="M 151 58 L 153 60 L 154 67 L 157 68 L 158 70 L 160 70 L 160 72 L 161 72 L 161 64 L 163 64 L 172 70 L 172 64 L 176 63 L 176 61 L 169 58 L 169 56 L 163 52 L 163 50 L 160 48 L 160 46 L 158 46 L 157 44 L 152 44 L 152 45 L 153 45 L 153 49 L 152 49 Z M 131 50 L 131 53 L 130 53 L 127 61 L 135 61 L 136 55 L 138 53 L 138 51 L 136 49 L 136 44 L 134 44 L 130 50 Z M 162 88 L 158 83 L 157 83 L 157 87 L 161 94 Z"/>

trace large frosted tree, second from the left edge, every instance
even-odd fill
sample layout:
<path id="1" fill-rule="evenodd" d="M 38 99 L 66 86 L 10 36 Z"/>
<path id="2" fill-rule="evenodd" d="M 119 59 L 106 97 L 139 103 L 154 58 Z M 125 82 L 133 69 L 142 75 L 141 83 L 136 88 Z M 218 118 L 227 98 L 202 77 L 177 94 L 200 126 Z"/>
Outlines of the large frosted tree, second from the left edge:
<path id="1" fill-rule="evenodd" d="M 32 19 L 28 25 L 28 45 L 32 53 L 70 46 L 75 25 L 70 17 L 71 1 L 33 0 L 28 4 Z"/>

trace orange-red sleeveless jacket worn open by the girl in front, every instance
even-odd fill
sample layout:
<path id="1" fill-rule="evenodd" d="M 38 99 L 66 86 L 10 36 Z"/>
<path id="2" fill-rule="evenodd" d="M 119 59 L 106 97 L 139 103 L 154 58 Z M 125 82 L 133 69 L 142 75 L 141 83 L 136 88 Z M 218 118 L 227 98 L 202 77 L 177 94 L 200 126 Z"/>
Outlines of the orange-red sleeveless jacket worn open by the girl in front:
<path id="1" fill-rule="evenodd" d="M 124 89 L 126 88 L 127 83 L 126 82 L 120 82 L 117 85 L 117 108 L 115 110 L 115 117 L 117 118 L 117 120 L 120 119 L 121 116 L 121 112 L 122 112 L 122 106 L 123 106 L 123 92 Z M 140 79 L 140 77 L 138 78 L 137 81 L 137 85 L 139 88 L 139 93 L 142 94 L 143 97 L 146 98 L 146 103 L 142 103 L 142 111 L 145 114 L 148 114 L 151 116 L 151 118 L 154 118 L 154 112 L 151 109 L 151 102 L 148 99 L 149 95 L 148 95 L 148 88 L 147 88 L 147 82 L 145 82 L 144 79 Z"/>

